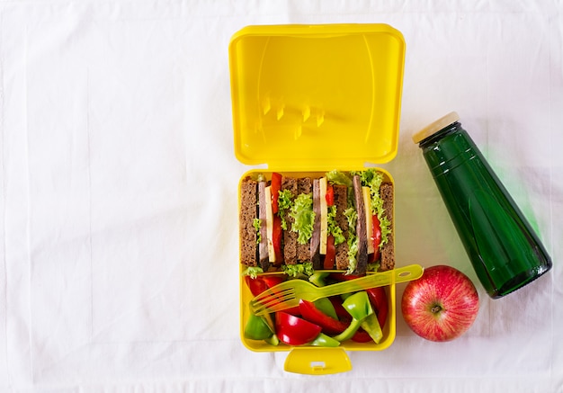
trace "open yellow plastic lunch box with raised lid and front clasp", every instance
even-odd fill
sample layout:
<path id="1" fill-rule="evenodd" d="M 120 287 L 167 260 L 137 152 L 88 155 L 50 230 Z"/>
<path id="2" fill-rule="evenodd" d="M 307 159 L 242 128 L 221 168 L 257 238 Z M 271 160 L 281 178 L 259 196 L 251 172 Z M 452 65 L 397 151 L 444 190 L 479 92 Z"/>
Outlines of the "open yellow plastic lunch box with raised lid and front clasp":
<path id="1" fill-rule="evenodd" d="M 272 172 L 320 177 L 333 169 L 362 170 L 366 163 L 386 163 L 397 155 L 405 63 L 400 31 L 387 24 L 248 26 L 232 37 L 229 61 L 235 154 L 246 165 L 268 165 L 241 180 Z M 380 344 L 319 348 L 248 340 L 244 327 L 252 294 L 242 275 L 239 280 L 243 344 L 257 352 L 289 351 L 286 371 L 349 371 L 347 351 L 380 351 L 395 339 L 391 285 Z"/>

